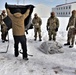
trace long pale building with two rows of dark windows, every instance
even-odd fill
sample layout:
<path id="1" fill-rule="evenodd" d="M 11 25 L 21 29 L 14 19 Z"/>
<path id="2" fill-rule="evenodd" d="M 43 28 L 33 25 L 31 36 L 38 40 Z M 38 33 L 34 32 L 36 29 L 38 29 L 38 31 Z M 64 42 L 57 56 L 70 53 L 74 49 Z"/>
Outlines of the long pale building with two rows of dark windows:
<path id="1" fill-rule="evenodd" d="M 52 8 L 52 11 L 54 11 L 58 17 L 69 17 L 72 10 L 76 10 L 76 2 L 61 4 Z"/>

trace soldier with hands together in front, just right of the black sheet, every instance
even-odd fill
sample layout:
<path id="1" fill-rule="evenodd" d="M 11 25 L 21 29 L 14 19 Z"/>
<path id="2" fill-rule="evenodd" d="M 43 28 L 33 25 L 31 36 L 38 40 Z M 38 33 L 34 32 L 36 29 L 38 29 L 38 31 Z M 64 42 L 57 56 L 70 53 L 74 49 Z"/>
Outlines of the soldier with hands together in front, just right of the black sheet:
<path id="1" fill-rule="evenodd" d="M 32 20 L 33 26 L 34 26 L 34 32 L 35 32 L 35 41 L 37 39 L 37 32 L 39 34 L 39 41 L 42 41 L 41 39 L 41 24 L 42 24 L 42 20 L 40 17 L 38 17 L 37 13 L 34 14 L 34 18 Z"/>

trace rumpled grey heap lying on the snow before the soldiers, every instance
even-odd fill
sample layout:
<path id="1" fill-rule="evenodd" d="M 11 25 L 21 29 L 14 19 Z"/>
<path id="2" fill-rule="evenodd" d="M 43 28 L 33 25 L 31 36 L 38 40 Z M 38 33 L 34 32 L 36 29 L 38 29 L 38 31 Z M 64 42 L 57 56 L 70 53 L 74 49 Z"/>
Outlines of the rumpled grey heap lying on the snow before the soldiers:
<path id="1" fill-rule="evenodd" d="M 63 50 L 61 50 L 62 45 L 55 41 L 46 41 L 43 42 L 39 50 L 42 51 L 45 54 L 55 54 L 55 53 L 63 53 Z"/>

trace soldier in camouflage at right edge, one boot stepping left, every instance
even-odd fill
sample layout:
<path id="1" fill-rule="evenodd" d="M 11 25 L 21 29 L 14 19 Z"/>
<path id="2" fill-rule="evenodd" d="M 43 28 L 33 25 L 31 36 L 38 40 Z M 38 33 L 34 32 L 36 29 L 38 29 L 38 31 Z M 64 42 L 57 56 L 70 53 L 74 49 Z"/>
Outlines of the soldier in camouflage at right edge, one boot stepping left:
<path id="1" fill-rule="evenodd" d="M 66 30 L 68 30 L 67 43 L 64 44 L 64 45 L 70 45 L 69 48 L 72 48 L 74 45 L 75 28 L 76 28 L 76 10 L 73 10 L 72 16 L 69 18 L 69 22 L 66 28 Z"/>

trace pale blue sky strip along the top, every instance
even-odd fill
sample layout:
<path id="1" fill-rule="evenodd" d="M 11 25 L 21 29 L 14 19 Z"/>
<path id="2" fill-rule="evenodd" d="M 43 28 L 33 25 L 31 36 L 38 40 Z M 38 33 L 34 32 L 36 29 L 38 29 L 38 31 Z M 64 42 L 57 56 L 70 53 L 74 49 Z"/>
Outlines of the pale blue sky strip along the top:
<path id="1" fill-rule="evenodd" d="M 65 2 L 75 2 L 76 0 L 19 0 L 19 4 L 44 4 L 49 7 L 54 7 Z M 8 4 L 17 4 L 17 0 L 0 0 L 0 9 L 4 9 L 5 2 Z"/>

